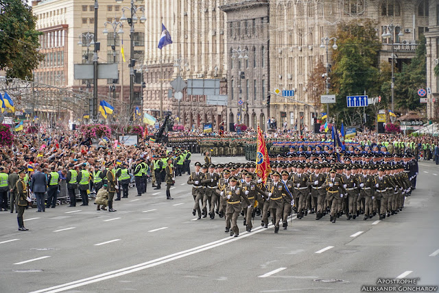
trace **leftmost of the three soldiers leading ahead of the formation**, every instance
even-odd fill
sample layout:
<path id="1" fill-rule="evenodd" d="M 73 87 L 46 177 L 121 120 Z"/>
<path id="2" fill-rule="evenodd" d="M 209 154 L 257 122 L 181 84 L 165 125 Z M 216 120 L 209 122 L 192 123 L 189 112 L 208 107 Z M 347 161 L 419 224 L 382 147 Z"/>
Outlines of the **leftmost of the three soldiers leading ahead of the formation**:
<path id="1" fill-rule="evenodd" d="M 245 192 L 239 186 L 236 186 L 237 178 L 235 176 L 230 177 L 230 186 L 226 187 L 221 195 L 227 202 L 226 207 L 226 231 L 230 231 L 230 236 L 238 237 L 239 228 L 237 225 L 237 218 L 239 212 L 241 212 L 241 198 L 247 203 L 247 207 L 250 207 L 250 201 L 248 200 Z M 230 229 L 231 222 L 231 229 Z"/>

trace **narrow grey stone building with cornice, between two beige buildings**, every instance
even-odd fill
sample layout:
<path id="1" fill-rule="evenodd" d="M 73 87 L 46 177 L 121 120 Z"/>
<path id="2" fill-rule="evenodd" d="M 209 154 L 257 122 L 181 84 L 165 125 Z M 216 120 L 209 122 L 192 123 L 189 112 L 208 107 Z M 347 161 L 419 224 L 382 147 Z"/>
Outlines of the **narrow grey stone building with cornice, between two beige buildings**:
<path id="1" fill-rule="evenodd" d="M 270 21 L 268 0 L 228 1 L 227 14 L 228 126 L 244 123 L 265 129 L 270 116 Z"/>

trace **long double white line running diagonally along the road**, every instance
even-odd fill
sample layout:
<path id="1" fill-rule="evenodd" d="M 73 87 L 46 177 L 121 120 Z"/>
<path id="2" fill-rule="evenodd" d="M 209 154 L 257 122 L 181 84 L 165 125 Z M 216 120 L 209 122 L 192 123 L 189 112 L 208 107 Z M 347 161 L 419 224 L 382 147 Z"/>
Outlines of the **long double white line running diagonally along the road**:
<path id="1" fill-rule="evenodd" d="M 268 227 L 272 228 L 274 226 L 272 224 L 270 224 L 270 225 L 268 225 Z M 152 268 L 154 266 L 159 266 L 161 264 L 166 264 L 167 262 L 172 262 L 172 261 L 174 261 L 176 259 L 180 259 L 182 257 L 187 257 L 187 256 L 193 255 L 195 253 L 201 253 L 203 251 L 207 251 L 209 249 L 213 249 L 213 248 L 215 248 L 217 246 L 222 246 L 222 245 L 228 244 L 230 242 L 241 240 L 241 239 L 244 239 L 244 238 L 246 238 L 246 237 L 248 237 L 250 235 L 254 235 L 254 234 L 260 233 L 262 231 L 265 231 L 265 229 L 262 229 L 262 227 L 257 227 L 251 233 L 248 233 L 248 232 L 241 233 L 241 235 L 239 235 L 239 237 L 237 237 L 237 238 L 235 238 L 235 237 L 233 237 L 233 238 L 230 238 L 230 237 L 222 238 L 222 239 L 214 241 L 214 242 L 210 242 L 210 243 L 207 243 L 207 244 L 203 244 L 201 246 L 194 247 L 193 249 L 187 249 L 186 251 L 180 251 L 178 253 L 174 253 L 174 254 L 171 254 L 171 255 L 166 255 L 166 256 L 160 257 L 158 259 L 152 259 L 152 260 L 150 260 L 148 262 L 144 262 L 142 264 L 136 264 L 134 266 L 129 266 L 129 267 L 126 267 L 126 268 L 120 268 L 119 270 L 112 270 L 110 272 L 104 272 L 104 273 L 102 273 L 100 275 L 95 275 L 95 276 L 88 277 L 88 278 L 85 278 L 85 279 L 80 279 L 80 280 L 77 280 L 77 281 L 72 281 L 72 282 L 69 282 L 69 283 L 64 283 L 64 284 L 61 284 L 61 285 L 52 286 L 50 288 L 45 288 L 45 289 L 34 291 L 34 292 L 31 292 L 31 293 L 42 293 L 42 292 L 56 293 L 56 292 L 62 292 L 62 291 L 66 291 L 66 290 L 71 290 L 73 288 L 78 288 L 78 287 L 81 287 L 83 285 L 88 285 L 88 284 L 91 284 L 91 283 L 97 283 L 99 281 L 104 281 L 104 280 L 107 280 L 107 279 L 112 279 L 112 278 L 115 278 L 115 277 L 120 277 L 120 276 L 123 276 L 123 275 L 128 275 L 128 274 L 130 274 L 132 272 L 138 272 L 140 270 L 145 270 L 147 268 Z"/>

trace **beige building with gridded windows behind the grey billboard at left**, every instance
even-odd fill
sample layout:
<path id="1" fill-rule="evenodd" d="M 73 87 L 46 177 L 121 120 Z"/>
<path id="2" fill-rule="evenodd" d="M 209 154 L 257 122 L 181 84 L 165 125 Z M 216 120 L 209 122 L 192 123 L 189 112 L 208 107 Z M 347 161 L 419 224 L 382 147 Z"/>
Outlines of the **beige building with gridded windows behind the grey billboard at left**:
<path id="1" fill-rule="evenodd" d="M 32 1 L 32 10 L 37 16 L 36 29 L 43 34 L 40 36 L 40 52 L 45 55 L 43 62 L 34 71 L 34 81 L 60 88 L 73 88 L 93 92 L 93 79 L 74 79 L 74 64 L 93 63 L 93 44 L 84 36 L 93 34 L 95 25 L 94 2 L 87 0 L 36 0 Z M 99 0 L 97 17 L 97 42 L 100 42 L 98 53 L 99 62 L 112 63 L 116 61 L 119 79 L 115 83 L 113 95 L 112 79 L 98 79 L 98 94 L 107 96 L 108 103 L 122 105 L 129 101 L 130 96 L 130 26 L 123 25 L 123 35 L 114 38 L 114 30 L 107 25 L 108 35 L 104 35 L 104 23 L 119 21 L 123 12 L 122 7 L 130 5 L 125 0 L 118 4 L 114 0 Z M 143 5 L 140 3 L 140 5 Z M 129 17 L 129 11 L 126 12 Z M 139 12 L 141 16 L 141 12 Z M 141 29 L 142 28 L 142 29 Z M 137 23 L 134 32 L 134 55 L 138 64 L 143 63 L 145 51 L 145 32 L 143 25 Z M 117 29 L 119 31 L 119 27 Z M 82 44 L 78 45 L 78 42 Z M 123 43 L 123 44 L 122 44 Z M 124 47 L 126 61 L 121 57 L 121 47 Z M 112 47 L 113 46 L 113 47 Z M 114 48 L 114 50 L 113 50 Z M 115 55 L 115 59 L 114 59 Z M 141 81 L 139 71 L 134 77 L 134 103 L 141 105 Z"/>

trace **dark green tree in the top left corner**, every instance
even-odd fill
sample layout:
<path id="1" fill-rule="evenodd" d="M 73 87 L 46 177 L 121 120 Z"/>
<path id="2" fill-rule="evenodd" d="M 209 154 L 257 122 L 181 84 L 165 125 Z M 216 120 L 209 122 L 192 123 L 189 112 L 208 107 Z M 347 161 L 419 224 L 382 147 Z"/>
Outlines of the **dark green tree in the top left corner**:
<path id="1" fill-rule="evenodd" d="M 43 60 L 38 53 L 36 16 L 22 0 L 0 0 L 0 70 L 7 77 L 32 79 L 32 70 Z"/>

